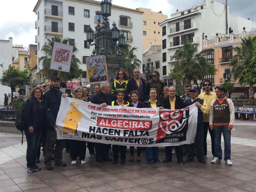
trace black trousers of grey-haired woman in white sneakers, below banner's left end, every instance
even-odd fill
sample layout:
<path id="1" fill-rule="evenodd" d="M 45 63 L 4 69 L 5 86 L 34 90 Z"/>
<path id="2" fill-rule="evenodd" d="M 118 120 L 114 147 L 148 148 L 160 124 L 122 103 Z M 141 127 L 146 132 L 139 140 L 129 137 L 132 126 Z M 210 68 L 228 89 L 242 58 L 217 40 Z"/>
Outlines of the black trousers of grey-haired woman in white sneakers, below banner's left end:
<path id="1" fill-rule="evenodd" d="M 80 155 L 80 160 L 85 159 L 86 141 L 69 140 L 70 158 L 76 160 L 77 155 Z"/>

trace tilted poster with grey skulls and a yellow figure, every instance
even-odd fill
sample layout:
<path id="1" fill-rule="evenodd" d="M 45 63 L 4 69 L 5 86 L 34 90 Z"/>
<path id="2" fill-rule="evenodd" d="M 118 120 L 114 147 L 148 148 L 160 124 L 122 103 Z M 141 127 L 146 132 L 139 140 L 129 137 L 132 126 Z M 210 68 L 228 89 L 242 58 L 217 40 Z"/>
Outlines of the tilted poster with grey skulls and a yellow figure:
<path id="1" fill-rule="evenodd" d="M 89 84 L 107 81 L 107 64 L 105 55 L 86 57 L 86 69 Z"/>

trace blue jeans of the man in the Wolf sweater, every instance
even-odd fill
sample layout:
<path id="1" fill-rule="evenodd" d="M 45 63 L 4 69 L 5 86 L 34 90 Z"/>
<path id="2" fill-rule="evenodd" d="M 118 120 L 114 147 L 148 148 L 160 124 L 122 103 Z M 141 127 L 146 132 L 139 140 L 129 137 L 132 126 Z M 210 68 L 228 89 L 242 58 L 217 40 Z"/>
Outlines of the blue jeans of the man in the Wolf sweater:
<path id="1" fill-rule="evenodd" d="M 221 133 L 224 138 L 224 160 L 230 160 L 231 154 L 231 131 L 227 130 L 227 126 L 214 126 L 214 140 L 215 140 L 215 157 L 219 160 L 222 159 L 222 149 L 221 149 Z"/>

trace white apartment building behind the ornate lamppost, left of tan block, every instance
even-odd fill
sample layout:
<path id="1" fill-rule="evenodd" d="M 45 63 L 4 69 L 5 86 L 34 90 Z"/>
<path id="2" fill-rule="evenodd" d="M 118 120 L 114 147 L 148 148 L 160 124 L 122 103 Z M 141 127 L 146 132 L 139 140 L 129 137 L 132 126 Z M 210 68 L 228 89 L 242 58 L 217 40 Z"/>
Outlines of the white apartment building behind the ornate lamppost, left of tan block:
<path id="1" fill-rule="evenodd" d="M 103 21 L 100 15 L 100 1 L 94 0 L 38 0 L 34 8 L 37 15 L 35 28 L 37 35 L 35 42 L 38 46 L 39 59 L 43 56 L 42 46 L 47 39 L 53 40 L 54 35 L 61 39 L 70 38 L 78 48 L 77 58 L 82 62 L 80 68 L 86 73 L 85 57 L 90 56 L 94 46 L 86 41 L 86 30 L 90 26 L 94 31 L 95 27 Z M 119 30 L 126 37 L 126 43 L 131 47 L 138 47 L 136 55 L 142 60 L 142 11 L 112 5 L 109 18 L 110 27 L 115 22 Z M 93 42 L 94 43 L 94 42 Z M 37 61 L 38 62 L 38 61 Z M 42 64 L 38 62 L 37 73 Z"/>

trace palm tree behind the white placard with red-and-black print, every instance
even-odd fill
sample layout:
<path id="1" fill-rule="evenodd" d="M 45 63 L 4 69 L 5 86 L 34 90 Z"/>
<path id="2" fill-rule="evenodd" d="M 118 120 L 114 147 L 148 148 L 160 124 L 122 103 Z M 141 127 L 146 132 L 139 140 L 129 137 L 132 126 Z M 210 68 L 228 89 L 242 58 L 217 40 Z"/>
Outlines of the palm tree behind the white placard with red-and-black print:
<path id="1" fill-rule="evenodd" d="M 73 45 L 74 48 L 73 48 L 73 54 L 71 57 L 71 65 L 70 65 L 69 73 L 50 69 L 54 42 L 67 44 L 68 40 L 69 38 L 65 38 L 63 41 L 61 41 L 61 38 L 59 36 L 55 36 L 54 41 L 47 39 L 47 43 L 42 47 L 41 51 L 43 51 L 45 56 L 42 56 L 39 58 L 39 62 L 42 62 L 42 67 L 43 67 L 40 71 L 48 79 L 51 79 L 52 76 L 57 75 L 62 81 L 66 82 L 68 80 L 72 80 L 80 77 L 82 70 L 79 69 L 79 64 L 81 64 L 81 62 L 75 56 L 76 53 L 78 52 L 78 49 L 76 48 L 75 45 Z"/>

